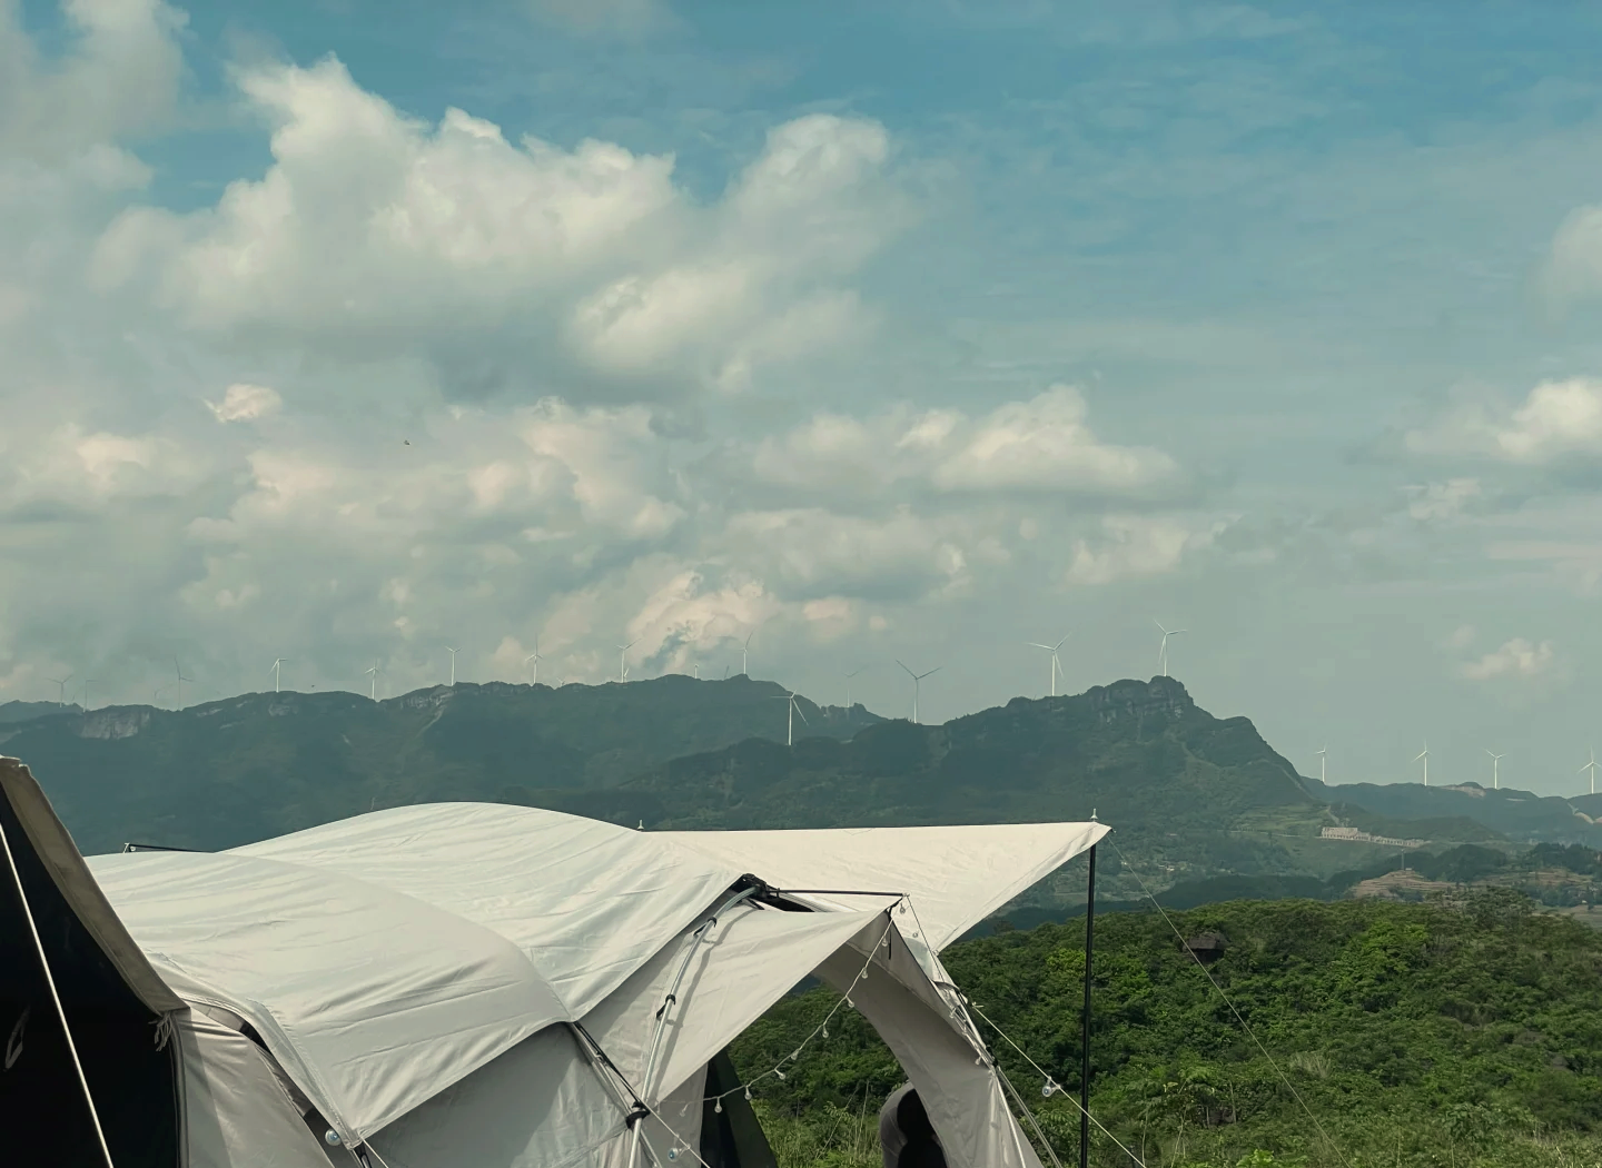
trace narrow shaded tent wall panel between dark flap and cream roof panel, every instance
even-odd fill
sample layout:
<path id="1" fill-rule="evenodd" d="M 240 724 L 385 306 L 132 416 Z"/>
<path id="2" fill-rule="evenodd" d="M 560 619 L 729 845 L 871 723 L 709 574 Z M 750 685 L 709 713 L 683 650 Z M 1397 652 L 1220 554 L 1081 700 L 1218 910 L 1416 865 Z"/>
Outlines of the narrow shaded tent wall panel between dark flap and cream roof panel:
<path id="1" fill-rule="evenodd" d="M 173 1025 L 181 1053 L 187 1168 L 330 1168 L 253 1041 L 197 1013 Z"/>

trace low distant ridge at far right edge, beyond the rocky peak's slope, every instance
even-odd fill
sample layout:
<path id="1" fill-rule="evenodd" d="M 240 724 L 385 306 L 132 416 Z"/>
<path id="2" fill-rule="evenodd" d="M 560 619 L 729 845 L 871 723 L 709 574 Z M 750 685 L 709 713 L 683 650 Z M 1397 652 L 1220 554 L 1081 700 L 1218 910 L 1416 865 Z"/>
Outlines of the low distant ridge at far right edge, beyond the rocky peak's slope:
<path id="1" fill-rule="evenodd" d="M 1314 790 L 1331 801 L 1355 803 L 1392 819 L 1472 819 L 1519 843 L 1583 843 L 1602 846 L 1602 795 L 1564 799 L 1509 787 L 1495 790 L 1479 783 L 1424 787 L 1423 783 L 1342 783 L 1325 787 L 1310 779 Z M 1588 803 L 1589 801 L 1589 803 Z M 1592 808 L 1589 812 L 1584 808 Z"/>

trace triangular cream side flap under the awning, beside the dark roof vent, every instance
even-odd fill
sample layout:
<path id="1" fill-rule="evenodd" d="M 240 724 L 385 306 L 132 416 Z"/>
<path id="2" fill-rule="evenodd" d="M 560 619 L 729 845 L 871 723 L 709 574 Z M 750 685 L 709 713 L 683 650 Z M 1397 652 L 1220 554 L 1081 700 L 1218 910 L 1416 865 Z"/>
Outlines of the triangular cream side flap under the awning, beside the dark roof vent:
<path id="1" fill-rule="evenodd" d="M 883 913 L 787 913 L 737 905 L 700 942 L 692 944 L 684 934 L 666 945 L 585 1017 L 585 1029 L 644 1101 L 655 1104 L 875 921 L 879 936 L 886 924 Z M 684 979 L 666 1014 L 662 1051 L 647 1083 L 657 1009 L 681 968 Z"/>

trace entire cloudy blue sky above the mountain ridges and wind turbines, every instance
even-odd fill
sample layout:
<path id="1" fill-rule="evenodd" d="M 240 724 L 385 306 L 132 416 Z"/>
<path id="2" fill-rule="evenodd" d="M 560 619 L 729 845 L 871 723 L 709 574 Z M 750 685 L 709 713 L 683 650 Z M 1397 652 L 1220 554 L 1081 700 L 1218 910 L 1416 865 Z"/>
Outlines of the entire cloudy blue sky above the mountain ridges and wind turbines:
<path id="1" fill-rule="evenodd" d="M 1048 692 L 1028 642 L 1150 678 L 1161 622 L 1302 774 L 1583 790 L 1599 48 L 1557 2 L 0 0 L 0 702 L 750 638 L 891 716 L 939 667 L 932 723 Z"/>

